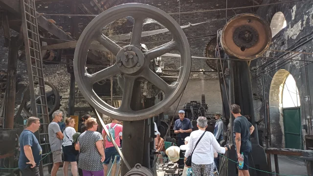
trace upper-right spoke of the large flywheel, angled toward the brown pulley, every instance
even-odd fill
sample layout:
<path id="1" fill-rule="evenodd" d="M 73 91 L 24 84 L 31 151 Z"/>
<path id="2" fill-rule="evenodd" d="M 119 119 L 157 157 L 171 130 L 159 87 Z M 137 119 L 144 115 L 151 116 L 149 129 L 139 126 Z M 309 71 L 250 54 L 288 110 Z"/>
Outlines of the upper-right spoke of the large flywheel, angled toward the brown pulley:
<path id="1" fill-rule="evenodd" d="M 145 53 L 145 58 L 148 60 L 148 61 L 151 61 L 157 57 L 160 57 L 162 56 L 163 54 L 166 54 L 170 51 L 173 51 L 174 49 L 177 48 L 177 44 L 175 41 L 171 41 L 169 43 L 166 43 L 166 44 L 162 44 L 160 46 L 157 46 L 153 49 L 150 49 L 148 50 L 146 53 Z"/>

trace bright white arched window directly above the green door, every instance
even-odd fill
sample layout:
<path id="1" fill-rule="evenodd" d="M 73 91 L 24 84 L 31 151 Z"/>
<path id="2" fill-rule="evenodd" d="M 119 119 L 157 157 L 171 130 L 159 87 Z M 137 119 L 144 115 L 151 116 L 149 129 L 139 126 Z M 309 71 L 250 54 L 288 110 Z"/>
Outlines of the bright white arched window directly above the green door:
<path id="1" fill-rule="evenodd" d="M 283 88 L 283 108 L 300 107 L 300 96 L 295 80 L 288 75 Z"/>

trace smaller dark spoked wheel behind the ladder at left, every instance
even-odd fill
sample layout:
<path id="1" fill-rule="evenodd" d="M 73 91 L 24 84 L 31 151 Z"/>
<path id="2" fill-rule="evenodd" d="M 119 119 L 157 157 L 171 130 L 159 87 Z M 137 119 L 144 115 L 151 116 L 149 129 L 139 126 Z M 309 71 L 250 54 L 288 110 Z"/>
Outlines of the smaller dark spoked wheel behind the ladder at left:
<path id="1" fill-rule="evenodd" d="M 38 82 L 34 82 L 34 84 L 38 85 Z M 25 104 L 23 104 L 21 106 L 23 106 L 23 110 L 24 110 L 25 114 L 28 117 L 30 117 L 30 116 L 32 116 L 30 97 L 29 97 L 29 94 L 25 94 L 25 92 L 27 92 L 28 89 L 29 89 L 29 86 L 27 86 L 22 93 L 21 100 L 23 100 L 24 96 L 26 96 L 25 98 L 27 98 L 27 100 L 26 100 Z M 39 91 L 38 88 L 35 87 L 35 94 L 36 95 L 39 95 L 38 91 Z M 59 90 L 57 88 L 55 88 L 51 83 L 45 81 L 45 95 L 47 98 L 48 112 L 49 112 L 49 115 L 51 115 L 55 110 L 58 110 L 60 108 Z M 40 96 L 36 96 L 36 104 L 41 104 L 41 103 L 39 103 L 40 100 L 41 100 Z"/>

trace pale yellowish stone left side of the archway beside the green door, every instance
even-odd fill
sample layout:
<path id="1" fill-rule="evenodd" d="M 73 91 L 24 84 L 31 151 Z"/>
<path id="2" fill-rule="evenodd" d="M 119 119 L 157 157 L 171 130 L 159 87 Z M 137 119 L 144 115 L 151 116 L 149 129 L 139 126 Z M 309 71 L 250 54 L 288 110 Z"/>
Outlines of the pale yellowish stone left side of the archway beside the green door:
<path id="1" fill-rule="evenodd" d="M 269 88 L 269 123 L 271 147 L 285 148 L 284 122 L 283 122 L 283 89 L 284 83 L 290 74 L 285 69 L 278 70 Z"/>

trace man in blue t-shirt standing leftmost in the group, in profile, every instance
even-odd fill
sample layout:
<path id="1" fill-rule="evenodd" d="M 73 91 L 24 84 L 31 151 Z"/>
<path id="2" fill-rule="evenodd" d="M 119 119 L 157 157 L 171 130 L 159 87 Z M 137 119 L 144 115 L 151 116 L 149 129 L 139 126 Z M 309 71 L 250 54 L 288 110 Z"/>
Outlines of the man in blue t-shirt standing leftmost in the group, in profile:
<path id="1" fill-rule="evenodd" d="M 42 148 L 34 135 L 39 127 L 39 118 L 29 117 L 26 122 L 26 129 L 20 135 L 19 169 L 22 176 L 40 176 L 39 164 L 42 157 Z"/>

